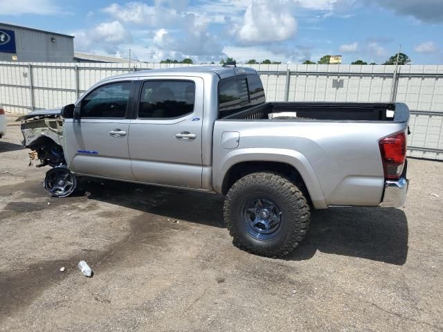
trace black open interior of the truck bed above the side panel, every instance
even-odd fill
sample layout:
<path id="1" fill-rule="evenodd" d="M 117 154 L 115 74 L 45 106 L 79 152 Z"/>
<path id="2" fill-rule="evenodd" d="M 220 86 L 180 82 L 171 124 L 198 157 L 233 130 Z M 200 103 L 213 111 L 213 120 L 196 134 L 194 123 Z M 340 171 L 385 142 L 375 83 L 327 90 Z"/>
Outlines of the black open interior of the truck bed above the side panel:
<path id="1" fill-rule="evenodd" d="M 223 119 L 269 120 L 269 113 L 280 112 L 296 112 L 297 118 L 293 120 L 407 122 L 409 117 L 406 105 L 399 103 L 265 102 Z"/>

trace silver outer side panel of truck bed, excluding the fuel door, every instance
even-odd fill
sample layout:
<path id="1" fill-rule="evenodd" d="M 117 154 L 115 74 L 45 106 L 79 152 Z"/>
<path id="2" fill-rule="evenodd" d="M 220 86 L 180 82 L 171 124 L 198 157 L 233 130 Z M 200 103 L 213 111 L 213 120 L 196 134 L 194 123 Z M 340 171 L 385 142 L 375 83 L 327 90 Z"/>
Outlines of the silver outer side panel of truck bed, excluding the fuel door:
<path id="1" fill-rule="evenodd" d="M 405 123 L 217 120 L 213 139 L 213 183 L 217 192 L 228 169 L 246 160 L 296 167 L 315 208 L 328 205 L 376 206 L 383 193 L 378 141 L 404 131 Z M 235 149 L 221 147 L 221 136 L 237 131 Z"/>

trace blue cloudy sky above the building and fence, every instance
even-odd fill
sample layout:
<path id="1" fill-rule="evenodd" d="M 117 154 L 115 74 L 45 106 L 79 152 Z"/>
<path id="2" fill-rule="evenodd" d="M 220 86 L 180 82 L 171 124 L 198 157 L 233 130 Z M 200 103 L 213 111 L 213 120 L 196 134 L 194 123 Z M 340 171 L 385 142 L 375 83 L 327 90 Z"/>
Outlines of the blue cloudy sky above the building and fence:
<path id="1" fill-rule="evenodd" d="M 381 64 L 401 45 L 413 64 L 443 64 L 443 0 L 0 0 L 0 22 L 146 62 L 297 64 L 329 54 Z"/>

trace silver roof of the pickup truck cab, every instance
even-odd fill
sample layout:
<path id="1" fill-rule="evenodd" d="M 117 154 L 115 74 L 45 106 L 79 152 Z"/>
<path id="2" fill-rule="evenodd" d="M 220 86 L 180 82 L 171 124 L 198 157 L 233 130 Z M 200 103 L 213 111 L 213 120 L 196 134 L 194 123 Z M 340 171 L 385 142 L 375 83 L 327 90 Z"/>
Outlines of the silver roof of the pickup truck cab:
<path id="1" fill-rule="evenodd" d="M 233 67 L 233 66 L 181 66 L 174 68 L 164 68 L 164 69 L 147 69 L 143 71 L 134 71 L 133 73 L 119 75 L 120 77 L 138 77 L 138 76 L 149 76 L 149 75 L 159 75 L 159 73 L 165 74 L 169 73 L 174 75 L 180 74 L 190 74 L 192 73 L 214 73 L 220 79 L 225 77 L 230 77 L 239 74 L 257 74 L 257 71 L 253 68 L 248 67 Z M 112 77 L 115 78 L 116 76 Z M 117 76 L 118 77 L 118 76 Z"/>

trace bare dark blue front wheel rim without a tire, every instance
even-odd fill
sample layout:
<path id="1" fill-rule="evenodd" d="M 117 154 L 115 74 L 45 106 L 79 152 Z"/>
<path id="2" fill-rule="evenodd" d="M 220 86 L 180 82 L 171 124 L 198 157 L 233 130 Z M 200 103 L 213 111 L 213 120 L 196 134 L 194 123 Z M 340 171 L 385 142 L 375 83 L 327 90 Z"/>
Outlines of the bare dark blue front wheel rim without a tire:
<path id="1" fill-rule="evenodd" d="M 46 172 L 44 189 L 55 197 L 67 197 L 77 187 L 77 178 L 65 166 L 54 167 Z"/>

